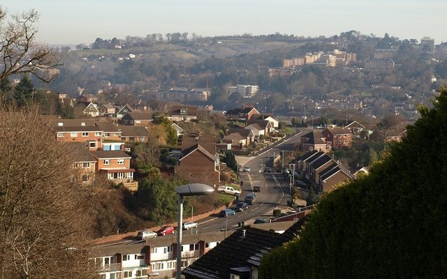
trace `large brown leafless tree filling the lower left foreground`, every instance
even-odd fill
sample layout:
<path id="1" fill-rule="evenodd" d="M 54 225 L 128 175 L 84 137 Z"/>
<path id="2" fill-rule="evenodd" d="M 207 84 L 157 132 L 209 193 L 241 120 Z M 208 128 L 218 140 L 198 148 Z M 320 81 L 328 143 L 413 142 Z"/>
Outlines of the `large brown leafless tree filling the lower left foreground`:
<path id="1" fill-rule="evenodd" d="M 0 111 L 0 278 L 94 278 L 91 196 L 36 111 Z"/>

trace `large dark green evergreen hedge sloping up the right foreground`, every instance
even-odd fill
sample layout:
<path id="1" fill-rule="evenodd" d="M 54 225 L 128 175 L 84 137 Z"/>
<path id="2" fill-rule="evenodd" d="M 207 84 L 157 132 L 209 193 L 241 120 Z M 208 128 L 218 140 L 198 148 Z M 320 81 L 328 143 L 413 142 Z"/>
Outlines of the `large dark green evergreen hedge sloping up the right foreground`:
<path id="1" fill-rule="evenodd" d="M 325 195 L 259 278 L 446 278 L 447 86 L 400 144 Z"/>

